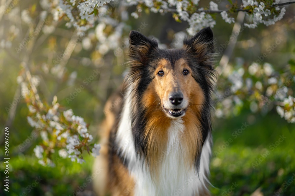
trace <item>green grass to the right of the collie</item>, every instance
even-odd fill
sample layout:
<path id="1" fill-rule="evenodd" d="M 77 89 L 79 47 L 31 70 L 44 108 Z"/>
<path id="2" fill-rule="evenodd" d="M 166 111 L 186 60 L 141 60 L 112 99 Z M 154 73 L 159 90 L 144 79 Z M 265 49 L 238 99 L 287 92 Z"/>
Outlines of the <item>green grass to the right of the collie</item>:
<path id="1" fill-rule="evenodd" d="M 295 195 L 295 181 L 291 178 L 295 175 L 294 125 L 277 114 L 258 116 L 240 135 L 232 136 L 242 122 L 247 122 L 244 119 L 247 115 L 226 120 L 213 134 L 213 195 L 251 195 L 258 188 L 267 196 L 275 195 L 280 188 L 280 195 Z M 230 138 L 231 142 L 224 144 Z M 288 180 L 291 184 L 283 184 Z"/>

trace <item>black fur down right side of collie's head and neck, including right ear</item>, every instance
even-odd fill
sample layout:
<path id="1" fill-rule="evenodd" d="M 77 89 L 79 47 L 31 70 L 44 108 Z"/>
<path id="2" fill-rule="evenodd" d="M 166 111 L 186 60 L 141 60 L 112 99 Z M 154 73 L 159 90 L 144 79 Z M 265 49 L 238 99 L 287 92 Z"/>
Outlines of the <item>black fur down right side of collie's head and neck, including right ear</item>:
<path id="1" fill-rule="evenodd" d="M 217 81 L 217 73 L 214 67 L 214 50 L 213 31 L 210 27 L 206 27 L 196 33 L 192 38 L 186 37 L 183 40 L 183 48 L 187 51 L 191 68 L 194 70 L 194 79 L 199 83 L 205 94 L 205 105 L 203 114 L 201 115 L 203 144 L 211 131 L 211 105 L 212 92 Z M 196 157 L 196 166 L 199 167 L 199 154 Z"/>

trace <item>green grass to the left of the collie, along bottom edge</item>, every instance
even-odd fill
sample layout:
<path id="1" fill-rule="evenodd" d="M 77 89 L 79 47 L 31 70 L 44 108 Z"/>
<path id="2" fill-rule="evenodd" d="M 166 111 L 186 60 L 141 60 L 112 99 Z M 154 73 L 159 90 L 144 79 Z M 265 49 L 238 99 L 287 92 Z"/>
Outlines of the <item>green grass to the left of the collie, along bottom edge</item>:
<path id="1" fill-rule="evenodd" d="M 35 156 L 19 155 L 10 159 L 9 170 L 9 192 L 4 191 L 4 195 L 19 196 L 27 195 L 73 195 L 79 186 L 91 189 L 92 179 L 91 168 L 93 158 L 85 156 L 86 163 L 73 163 L 71 160 L 56 160 L 56 167 L 43 167 Z M 1 179 L 4 179 L 4 171 L 1 170 Z M 34 186 L 35 181 L 40 178 L 40 183 Z M 87 179 L 87 180 L 86 180 Z M 3 191 L 3 190 L 1 190 Z M 73 192 L 74 191 L 74 192 Z M 24 194 L 24 195 L 25 195 Z M 2 194 L 0 194 L 2 195 Z"/>

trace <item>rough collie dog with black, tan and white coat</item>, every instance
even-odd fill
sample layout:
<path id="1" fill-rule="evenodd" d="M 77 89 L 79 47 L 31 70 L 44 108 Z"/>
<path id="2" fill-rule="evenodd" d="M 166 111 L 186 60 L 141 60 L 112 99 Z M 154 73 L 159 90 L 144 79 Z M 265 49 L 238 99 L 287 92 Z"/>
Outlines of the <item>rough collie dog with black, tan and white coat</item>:
<path id="1" fill-rule="evenodd" d="M 209 195 L 212 30 L 186 38 L 181 49 L 160 49 L 137 31 L 129 41 L 130 69 L 105 107 L 97 194 Z"/>

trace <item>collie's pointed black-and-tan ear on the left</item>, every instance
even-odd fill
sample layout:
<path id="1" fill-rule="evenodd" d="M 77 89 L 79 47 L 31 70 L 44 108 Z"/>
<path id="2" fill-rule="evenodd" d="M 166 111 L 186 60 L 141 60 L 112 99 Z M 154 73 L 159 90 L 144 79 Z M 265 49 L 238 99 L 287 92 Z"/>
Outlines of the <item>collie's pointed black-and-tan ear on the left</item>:
<path id="1" fill-rule="evenodd" d="M 129 34 L 129 56 L 134 60 L 144 62 L 147 54 L 155 48 L 158 48 L 158 42 L 147 38 L 137 31 L 131 31 Z"/>

